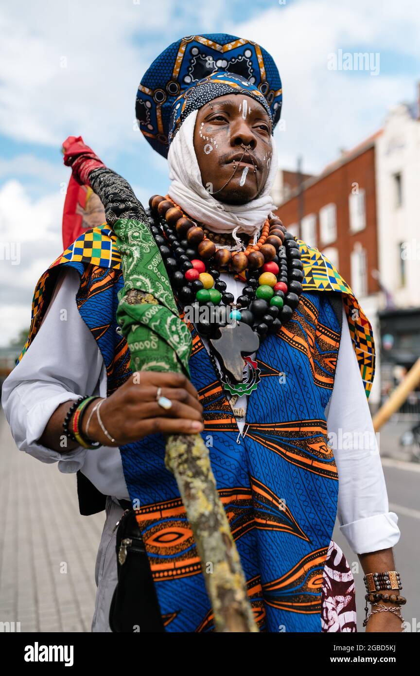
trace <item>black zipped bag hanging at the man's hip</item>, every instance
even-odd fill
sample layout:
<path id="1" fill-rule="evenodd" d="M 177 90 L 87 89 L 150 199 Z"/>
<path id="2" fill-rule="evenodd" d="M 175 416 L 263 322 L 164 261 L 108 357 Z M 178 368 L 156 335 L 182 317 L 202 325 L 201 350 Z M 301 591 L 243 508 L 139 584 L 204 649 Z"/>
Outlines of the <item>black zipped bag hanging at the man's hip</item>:
<path id="1" fill-rule="evenodd" d="M 149 557 L 136 514 L 126 509 L 117 529 L 118 582 L 109 609 L 109 626 L 117 633 L 165 631 Z"/>

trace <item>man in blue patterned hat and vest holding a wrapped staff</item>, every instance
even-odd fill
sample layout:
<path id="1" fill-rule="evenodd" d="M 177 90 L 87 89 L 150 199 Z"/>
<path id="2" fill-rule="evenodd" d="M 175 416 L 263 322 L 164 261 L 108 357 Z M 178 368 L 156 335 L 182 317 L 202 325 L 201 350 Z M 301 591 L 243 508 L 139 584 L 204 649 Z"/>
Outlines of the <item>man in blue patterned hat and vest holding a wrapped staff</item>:
<path id="1" fill-rule="evenodd" d="M 20 450 L 78 471 L 83 513 L 103 508 L 108 496 L 93 631 L 109 631 L 113 527 L 127 500 L 142 515 L 166 631 L 213 628 L 192 533 L 163 464 L 162 435 L 193 431 L 210 447 L 261 630 L 356 631 L 352 575 L 331 540 L 338 510 L 376 595 L 367 631 L 401 631 L 397 516 L 388 511 L 376 445 L 354 441 L 373 435 L 365 396 L 371 329 L 330 262 L 296 243 L 273 214 L 281 103 L 270 55 L 224 34 L 170 45 L 138 88 L 140 130 L 167 157 L 171 180 L 167 196 L 149 202 L 151 232 L 180 309 L 200 311 L 190 327 L 191 382 L 129 377 L 115 320 L 120 254 L 106 225 L 79 237 L 36 288 L 30 337 L 3 401 Z M 65 144 L 65 162 L 101 192 L 103 165 L 80 139 Z M 86 167 L 97 168 L 95 180 Z M 214 305 L 228 309 L 248 347 L 239 367 L 237 341 L 226 348 Z M 77 439 L 65 449 L 63 429 Z M 327 433 L 353 441 L 329 444 Z M 397 590 L 393 599 L 387 585 Z"/>

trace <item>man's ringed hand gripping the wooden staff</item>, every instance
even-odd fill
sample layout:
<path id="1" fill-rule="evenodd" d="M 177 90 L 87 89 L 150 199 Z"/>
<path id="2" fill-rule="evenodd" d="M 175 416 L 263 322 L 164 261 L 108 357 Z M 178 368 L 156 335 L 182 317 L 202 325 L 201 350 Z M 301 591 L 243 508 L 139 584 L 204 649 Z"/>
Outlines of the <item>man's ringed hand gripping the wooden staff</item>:
<path id="1" fill-rule="evenodd" d="M 161 396 L 172 401 L 172 408 L 164 409 L 157 403 L 158 387 Z M 90 410 L 83 416 L 85 431 Z M 101 420 L 111 443 L 103 433 L 96 412 L 89 423 L 88 437 L 106 446 L 122 446 L 138 441 L 149 434 L 190 434 L 203 431 L 203 406 L 188 379 L 180 373 L 141 371 L 133 373 L 128 381 L 101 404 Z"/>

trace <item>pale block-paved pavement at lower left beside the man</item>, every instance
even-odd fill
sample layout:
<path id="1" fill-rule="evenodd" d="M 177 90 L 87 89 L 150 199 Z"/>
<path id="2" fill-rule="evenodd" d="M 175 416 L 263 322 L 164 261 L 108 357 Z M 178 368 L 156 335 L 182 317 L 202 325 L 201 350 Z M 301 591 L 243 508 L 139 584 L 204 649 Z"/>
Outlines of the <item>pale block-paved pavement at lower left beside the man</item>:
<path id="1" fill-rule="evenodd" d="M 76 475 L 19 452 L 0 412 L 0 622 L 90 631 L 105 512 L 80 516 Z"/>

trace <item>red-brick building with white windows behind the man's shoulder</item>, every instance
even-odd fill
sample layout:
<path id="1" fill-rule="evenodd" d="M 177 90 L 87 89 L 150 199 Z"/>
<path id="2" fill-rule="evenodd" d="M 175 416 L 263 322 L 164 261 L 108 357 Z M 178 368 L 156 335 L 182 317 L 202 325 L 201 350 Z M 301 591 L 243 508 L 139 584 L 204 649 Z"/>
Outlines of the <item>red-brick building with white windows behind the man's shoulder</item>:
<path id="1" fill-rule="evenodd" d="M 380 133 L 342 153 L 319 176 L 280 171 L 273 189 L 286 228 L 325 253 L 362 299 L 379 291 L 375 142 Z"/>

